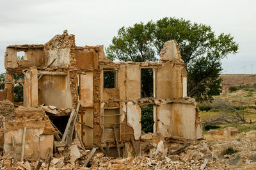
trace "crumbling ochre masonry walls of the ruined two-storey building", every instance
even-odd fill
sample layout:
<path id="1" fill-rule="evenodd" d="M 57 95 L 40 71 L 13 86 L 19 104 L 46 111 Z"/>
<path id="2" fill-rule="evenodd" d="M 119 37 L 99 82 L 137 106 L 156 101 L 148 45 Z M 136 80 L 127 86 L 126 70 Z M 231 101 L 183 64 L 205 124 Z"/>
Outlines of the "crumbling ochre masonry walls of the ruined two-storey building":
<path id="1" fill-rule="evenodd" d="M 17 52 L 23 52 L 24 59 L 17 59 Z M 67 31 L 44 45 L 10 45 L 0 99 L 13 102 L 13 75 L 24 74 L 24 107 L 56 107 L 45 112 L 60 131 L 81 100 L 76 131 L 85 146 L 112 143 L 114 128 L 118 143 L 131 137 L 139 140 L 141 107 L 147 105 L 154 105 L 154 132 L 172 139 L 202 139 L 199 111 L 187 97 L 186 65 L 177 42 L 164 43 L 159 56 L 156 62 L 113 62 L 102 45 L 77 47 L 75 36 Z M 141 93 L 144 68 L 153 70 L 152 97 Z"/>

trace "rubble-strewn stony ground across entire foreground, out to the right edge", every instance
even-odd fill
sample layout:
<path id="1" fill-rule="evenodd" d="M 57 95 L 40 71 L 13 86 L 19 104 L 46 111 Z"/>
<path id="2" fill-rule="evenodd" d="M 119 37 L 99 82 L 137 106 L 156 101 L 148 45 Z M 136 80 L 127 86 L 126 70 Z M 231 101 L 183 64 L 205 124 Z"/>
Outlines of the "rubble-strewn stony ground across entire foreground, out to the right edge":
<path id="1" fill-rule="evenodd" d="M 145 134 L 141 139 L 141 156 L 131 143 L 125 144 L 124 157 L 104 154 L 97 150 L 87 167 L 84 162 L 91 150 L 83 150 L 79 141 L 73 141 L 64 153 L 55 153 L 50 164 L 43 162 L 40 169 L 255 169 L 256 131 L 239 133 L 234 128 L 210 130 L 205 140 L 186 144 L 184 150 L 171 154 L 184 146 L 164 140 L 159 134 Z M 228 148 L 234 149 L 234 153 Z M 110 150 L 109 150 L 110 151 Z M 111 152 L 116 153 L 116 148 Z M 109 156 L 111 155 L 111 156 Z M 113 156 L 114 155 L 114 156 Z M 137 156 L 136 156 L 137 155 Z M 117 155 L 116 155 L 117 156 Z M 34 169 L 38 162 L 15 162 L 1 158 L 1 169 Z"/>

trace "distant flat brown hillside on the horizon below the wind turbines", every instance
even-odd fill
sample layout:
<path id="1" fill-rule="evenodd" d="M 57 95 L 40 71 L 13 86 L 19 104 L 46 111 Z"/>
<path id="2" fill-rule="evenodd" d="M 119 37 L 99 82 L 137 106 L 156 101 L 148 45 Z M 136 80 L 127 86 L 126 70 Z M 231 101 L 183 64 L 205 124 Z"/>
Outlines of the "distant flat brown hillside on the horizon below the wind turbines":
<path id="1" fill-rule="evenodd" d="M 239 86 L 256 83 L 256 74 L 221 74 L 222 86 Z"/>

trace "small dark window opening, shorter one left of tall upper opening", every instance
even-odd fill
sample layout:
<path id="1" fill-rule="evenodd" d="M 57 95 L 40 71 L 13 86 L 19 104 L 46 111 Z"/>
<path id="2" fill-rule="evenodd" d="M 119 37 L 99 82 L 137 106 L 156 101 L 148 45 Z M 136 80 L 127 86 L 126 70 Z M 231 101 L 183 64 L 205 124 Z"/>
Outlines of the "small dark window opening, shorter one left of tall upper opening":
<path id="1" fill-rule="evenodd" d="M 116 69 L 103 70 L 104 74 L 104 88 L 112 89 L 116 88 Z"/>

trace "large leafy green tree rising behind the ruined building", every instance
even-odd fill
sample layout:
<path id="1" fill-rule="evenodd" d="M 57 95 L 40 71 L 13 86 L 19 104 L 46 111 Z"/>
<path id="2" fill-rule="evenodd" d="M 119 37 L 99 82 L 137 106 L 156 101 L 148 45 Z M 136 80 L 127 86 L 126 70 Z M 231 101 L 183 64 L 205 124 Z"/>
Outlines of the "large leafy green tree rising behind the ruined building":
<path id="1" fill-rule="evenodd" d="M 216 36 L 211 26 L 165 17 L 156 22 L 122 27 L 106 49 L 109 59 L 156 61 L 164 42 L 176 40 L 187 65 L 188 95 L 197 101 L 211 101 L 220 94 L 221 59 L 236 54 L 238 44 L 230 34 Z"/>

